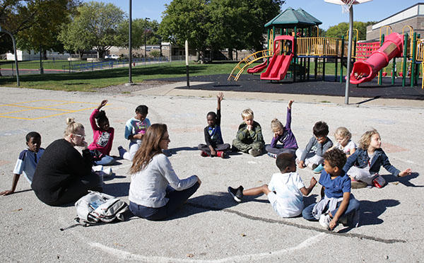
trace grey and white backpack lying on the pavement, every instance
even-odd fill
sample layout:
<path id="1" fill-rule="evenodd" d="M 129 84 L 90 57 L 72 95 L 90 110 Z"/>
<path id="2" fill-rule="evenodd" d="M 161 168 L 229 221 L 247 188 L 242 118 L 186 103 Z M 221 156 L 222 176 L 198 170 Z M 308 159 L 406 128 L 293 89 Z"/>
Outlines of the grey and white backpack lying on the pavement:
<path id="1" fill-rule="evenodd" d="M 83 226 L 91 226 L 96 223 L 110 223 L 115 219 L 124 221 L 124 212 L 128 210 L 128 204 L 119 198 L 109 194 L 89 191 L 75 203 L 77 223 Z"/>

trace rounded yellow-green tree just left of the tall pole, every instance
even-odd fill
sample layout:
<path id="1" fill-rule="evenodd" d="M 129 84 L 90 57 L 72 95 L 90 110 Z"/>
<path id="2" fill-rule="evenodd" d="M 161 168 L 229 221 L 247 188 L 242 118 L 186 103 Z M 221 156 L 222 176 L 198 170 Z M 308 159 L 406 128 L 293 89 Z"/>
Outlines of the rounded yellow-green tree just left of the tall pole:
<path id="1" fill-rule="evenodd" d="M 98 51 L 98 57 L 104 57 L 110 47 L 126 45 L 119 30 L 125 18 L 124 11 L 114 4 L 90 1 L 78 7 L 78 15 L 63 28 L 60 39 L 67 48 L 77 51 L 90 47 Z"/>

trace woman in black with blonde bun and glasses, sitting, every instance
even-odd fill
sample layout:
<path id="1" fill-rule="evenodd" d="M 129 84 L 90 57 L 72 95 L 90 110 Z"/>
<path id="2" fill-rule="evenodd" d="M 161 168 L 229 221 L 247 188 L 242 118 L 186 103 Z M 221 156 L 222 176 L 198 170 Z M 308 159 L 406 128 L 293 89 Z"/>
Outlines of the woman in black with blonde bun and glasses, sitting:
<path id="1" fill-rule="evenodd" d="M 91 172 L 93 158 L 83 124 L 73 118 L 66 119 L 66 124 L 64 139 L 53 141 L 45 149 L 47 154 L 40 158 L 31 185 L 38 199 L 49 206 L 75 202 L 88 190 L 102 191 L 102 180 Z M 74 146 L 82 149 L 82 156 Z"/>

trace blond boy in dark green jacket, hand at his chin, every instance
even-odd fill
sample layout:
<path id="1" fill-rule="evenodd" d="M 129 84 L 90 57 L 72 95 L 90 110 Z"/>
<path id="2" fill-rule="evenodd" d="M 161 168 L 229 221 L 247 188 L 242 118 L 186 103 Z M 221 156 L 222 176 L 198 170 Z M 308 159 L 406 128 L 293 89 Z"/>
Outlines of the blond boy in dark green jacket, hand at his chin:
<path id="1" fill-rule="evenodd" d="M 232 140 L 233 151 L 242 151 L 251 156 L 259 156 L 264 148 L 265 141 L 262 136 L 261 125 L 253 120 L 253 111 L 242 111 L 243 122 L 240 124 L 235 139 Z"/>

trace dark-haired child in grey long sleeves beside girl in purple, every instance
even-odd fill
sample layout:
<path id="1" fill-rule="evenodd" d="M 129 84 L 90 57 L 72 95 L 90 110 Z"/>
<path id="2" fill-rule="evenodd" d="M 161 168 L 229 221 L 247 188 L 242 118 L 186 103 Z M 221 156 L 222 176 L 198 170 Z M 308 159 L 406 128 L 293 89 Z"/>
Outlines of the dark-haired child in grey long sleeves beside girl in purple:
<path id="1" fill-rule="evenodd" d="M 310 167 L 314 172 L 321 172 L 324 162 L 324 153 L 333 146 L 333 141 L 327 137 L 329 135 L 329 126 L 326 122 L 316 122 L 312 129 L 314 136 L 307 143 L 305 150 L 296 151 L 299 158 L 298 168 Z"/>

